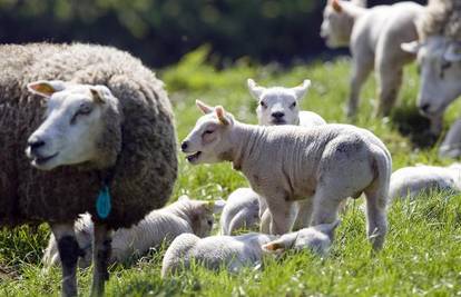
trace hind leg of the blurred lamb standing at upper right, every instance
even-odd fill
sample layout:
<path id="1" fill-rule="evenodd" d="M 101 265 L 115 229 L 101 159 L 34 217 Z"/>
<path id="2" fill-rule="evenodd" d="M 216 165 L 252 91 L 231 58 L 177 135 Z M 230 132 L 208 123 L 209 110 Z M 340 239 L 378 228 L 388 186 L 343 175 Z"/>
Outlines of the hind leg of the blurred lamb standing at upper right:
<path id="1" fill-rule="evenodd" d="M 402 85 L 403 69 L 402 65 L 383 60 L 376 66 L 376 76 L 379 80 L 379 105 L 377 116 L 389 116 L 399 95 Z"/>

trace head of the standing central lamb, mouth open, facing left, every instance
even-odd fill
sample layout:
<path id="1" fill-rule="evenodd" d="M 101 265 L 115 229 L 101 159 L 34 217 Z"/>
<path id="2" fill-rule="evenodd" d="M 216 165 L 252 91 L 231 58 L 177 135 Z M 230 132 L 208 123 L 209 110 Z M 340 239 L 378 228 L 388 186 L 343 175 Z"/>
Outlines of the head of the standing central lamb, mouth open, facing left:
<path id="1" fill-rule="evenodd" d="M 180 148 L 193 164 L 213 164 L 226 160 L 232 147 L 229 133 L 234 117 L 223 107 L 209 107 L 197 100 L 197 107 L 205 113 L 183 141 Z"/>

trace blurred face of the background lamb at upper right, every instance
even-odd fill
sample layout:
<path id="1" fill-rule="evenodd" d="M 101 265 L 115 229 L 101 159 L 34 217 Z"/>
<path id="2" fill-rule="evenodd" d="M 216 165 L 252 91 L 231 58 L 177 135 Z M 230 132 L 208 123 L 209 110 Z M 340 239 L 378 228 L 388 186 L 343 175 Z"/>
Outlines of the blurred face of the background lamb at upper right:
<path id="1" fill-rule="evenodd" d="M 320 36 L 328 48 L 347 47 L 351 39 L 352 19 L 341 7 L 341 1 L 328 1 L 323 11 Z"/>

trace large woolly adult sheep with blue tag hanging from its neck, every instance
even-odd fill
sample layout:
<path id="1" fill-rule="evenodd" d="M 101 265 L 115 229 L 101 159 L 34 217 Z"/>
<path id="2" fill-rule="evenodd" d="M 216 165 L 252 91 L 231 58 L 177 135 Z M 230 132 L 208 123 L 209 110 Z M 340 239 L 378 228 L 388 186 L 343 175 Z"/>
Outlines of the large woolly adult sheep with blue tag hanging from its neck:
<path id="1" fill-rule="evenodd" d="M 49 222 L 62 295 L 76 296 L 73 221 L 91 214 L 91 294 L 101 295 L 110 230 L 163 207 L 176 179 L 164 85 L 130 55 L 90 44 L 1 46 L 0 69 L 0 222 Z"/>

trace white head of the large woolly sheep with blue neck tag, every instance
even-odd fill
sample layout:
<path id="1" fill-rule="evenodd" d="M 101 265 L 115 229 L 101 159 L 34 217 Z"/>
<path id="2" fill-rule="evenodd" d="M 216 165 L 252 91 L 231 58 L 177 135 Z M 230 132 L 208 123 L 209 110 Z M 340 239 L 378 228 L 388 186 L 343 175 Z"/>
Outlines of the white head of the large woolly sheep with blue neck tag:
<path id="1" fill-rule="evenodd" d="M 48 100 L 43 122 L 28 139 L 26 154 L 32 166 L 51 170 L 79 164 L 105 168 L 115 162 L 121 119 L 118 100 L 108 88 L 63 81 L 37 81 L 28 88 Z"/>

